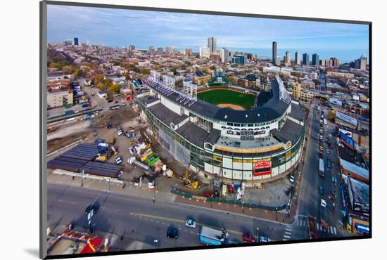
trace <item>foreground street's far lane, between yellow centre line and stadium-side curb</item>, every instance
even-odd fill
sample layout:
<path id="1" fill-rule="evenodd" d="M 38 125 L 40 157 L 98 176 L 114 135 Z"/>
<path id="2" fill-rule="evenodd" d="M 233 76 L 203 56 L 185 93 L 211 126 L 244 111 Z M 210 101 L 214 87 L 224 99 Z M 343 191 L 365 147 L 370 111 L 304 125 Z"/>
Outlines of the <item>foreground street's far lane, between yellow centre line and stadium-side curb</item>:
<path id="1" fill-rule="evenodd" d="M 279 240 L 281 238 L 281 231 L 285 228 L 284 225 L 278 223 L 270 223 L 236 214 L 227 214 L 226 212 L 215 212 L 189 205 L 161 202 L 153 203 L 151 200 L 115 195 L 113 193 L 103 193 L 84 188 L 65 187 L 66 190 L 61 191 L 64 189 L 62 186 L 52 186 L 49 188 L 49 194 L 53 193 L 53 196 L 49 195 L 49 200 L 52 198 L 52 201 L 49 201 L 50 204 L 57 204 L 58 194 L 61 194 L 62 198 L 59 202 L 64 202 L 63 196 L 66 197 L 65 200 L 68 202 L 77 201 L 77 203 L 83 206 L 83 209 L 82 207 L 80 209 L 81 212 L 91 202 L 98 201 L 101 206 L 101 212 L 109 212 L 109 214 L 115 213 L 114 215 L 118 215 L 118 212 L 120 212 L 122 216 L 129 216 L 132 213 L 147 215 L 146 217 L 148 219 L 151 219 L 151 217 L 154 219 L 163 217 L 169 218 L 170 221 L 182 223 L 183 226 L 186 218 L 192 218 L 198 221 L 199 224 L 203 223 L 206 226 L 215 228 L 227 228 L 231 238 L 239 242 L 241 242 L 243 232 L 248 231 L 253 233 L 257 227 L 262 230 L 262 233 L 267 234 L 269 238 Z"/>

